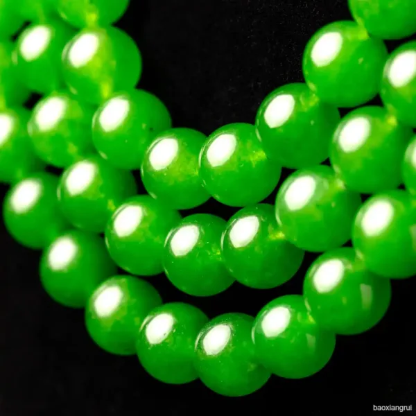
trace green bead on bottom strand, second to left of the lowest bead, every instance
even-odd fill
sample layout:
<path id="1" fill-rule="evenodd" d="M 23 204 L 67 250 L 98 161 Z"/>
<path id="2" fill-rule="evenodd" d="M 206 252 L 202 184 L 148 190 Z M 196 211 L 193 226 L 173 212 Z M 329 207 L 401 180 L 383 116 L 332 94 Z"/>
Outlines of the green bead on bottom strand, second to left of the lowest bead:
<path id="1" fill-rule="evenodd" d="M 156 289 L 132 276 L 114 276 L 95 289 L 85 309 L 87 331 L 111 354 L 132 355 L 140 326 L 148 313 L 162 304 Z"/>

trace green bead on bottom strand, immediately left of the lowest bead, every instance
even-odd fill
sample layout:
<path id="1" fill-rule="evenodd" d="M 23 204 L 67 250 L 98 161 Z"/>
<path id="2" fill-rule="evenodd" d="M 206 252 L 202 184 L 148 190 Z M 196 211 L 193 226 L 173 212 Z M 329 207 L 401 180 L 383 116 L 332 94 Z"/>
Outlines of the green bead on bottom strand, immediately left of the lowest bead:
<path id="1" fill-rule="evenodd" d="M 208 318 L 195 306 L 171 303 L 153 309 L 137 338 L 137 355 L 146 371 L 164 383 L 198 379 L 193 367 L 194 345 Z"/>

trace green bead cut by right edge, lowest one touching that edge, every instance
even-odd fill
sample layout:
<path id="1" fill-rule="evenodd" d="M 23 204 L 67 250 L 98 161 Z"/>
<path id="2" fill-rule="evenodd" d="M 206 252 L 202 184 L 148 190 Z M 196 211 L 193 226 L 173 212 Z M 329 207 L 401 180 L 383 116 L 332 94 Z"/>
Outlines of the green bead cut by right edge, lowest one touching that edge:
<path id="1" fill-rule="evenodd" d="M 399 189 L 372 196 L 358 211 L 352 232 L 354 248 L 365 266 L 383 277 L 416 275 L 416 208 Z"/>

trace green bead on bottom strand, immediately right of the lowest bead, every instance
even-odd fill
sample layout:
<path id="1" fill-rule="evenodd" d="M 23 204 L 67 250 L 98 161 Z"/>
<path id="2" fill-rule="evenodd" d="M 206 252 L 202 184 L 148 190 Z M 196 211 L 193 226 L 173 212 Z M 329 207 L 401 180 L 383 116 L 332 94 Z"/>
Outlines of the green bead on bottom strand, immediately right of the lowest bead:
<path id="1" fill-rule="evenodd" d="M 300 295 L 278 297 L 264 306 L 252 334 L 259 363 L 285 379 L 315 374 L 335 349 L 335 335 L 313 320 Z"/>

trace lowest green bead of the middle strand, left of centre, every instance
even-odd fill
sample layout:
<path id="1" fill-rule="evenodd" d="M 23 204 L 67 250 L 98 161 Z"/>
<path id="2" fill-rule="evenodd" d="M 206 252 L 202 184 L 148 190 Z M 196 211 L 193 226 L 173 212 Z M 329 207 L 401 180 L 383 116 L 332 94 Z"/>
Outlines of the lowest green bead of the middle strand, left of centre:
<path id="1" fill-rule="evenodd" d="M 164 247 L 163 268 L 180 291 L 193 296 L 211 296 L 233 284 L 221 254 L 224 229 L 223 218 L 193 214 L 171 230 Z"/>

